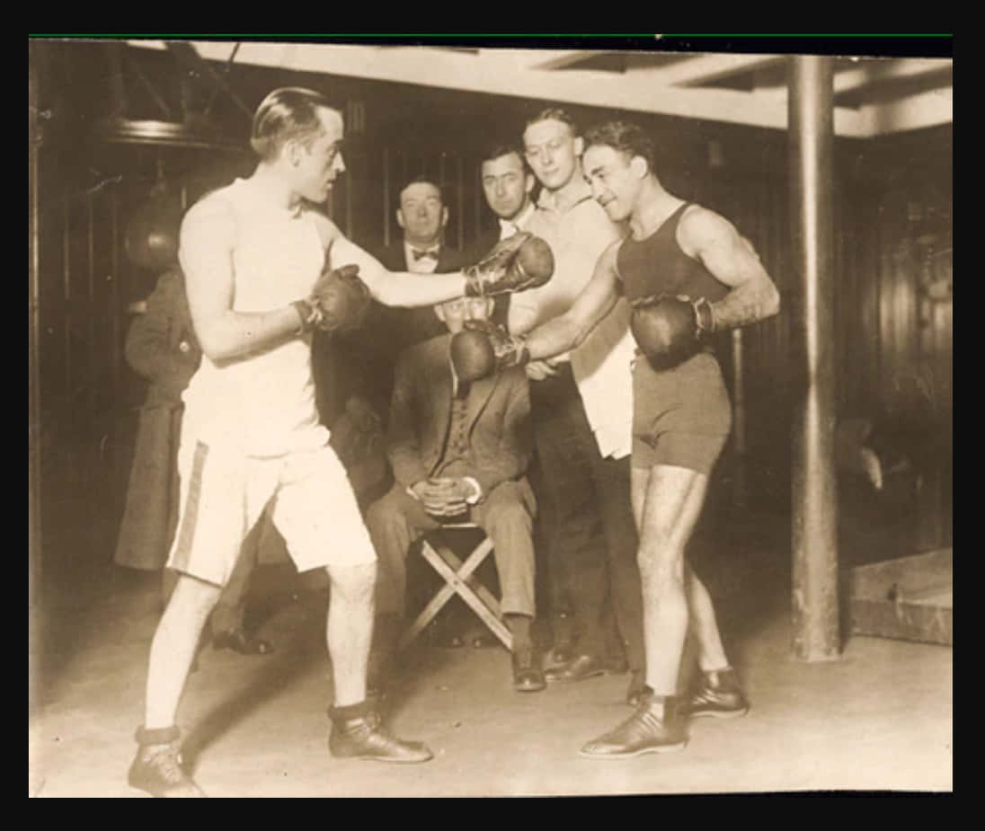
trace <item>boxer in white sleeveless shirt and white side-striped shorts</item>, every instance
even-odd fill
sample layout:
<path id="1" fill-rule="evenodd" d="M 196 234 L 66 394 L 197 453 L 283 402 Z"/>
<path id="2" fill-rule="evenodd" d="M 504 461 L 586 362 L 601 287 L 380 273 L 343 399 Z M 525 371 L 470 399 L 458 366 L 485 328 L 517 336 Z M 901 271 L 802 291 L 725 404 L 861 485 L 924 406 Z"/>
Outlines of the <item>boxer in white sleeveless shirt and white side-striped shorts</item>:
<path id="1" fill-rule="evenodd" d="M 461 273 L 392 274 L 346 239 L 313 207 L 345 169 L 342 135 L 342 116 L 317 93 L 271 93 L 254 117 L 254 173 L 206 196 L 182 223 L 179 257 L 204 354 L 184 396 L 181 515 L 168 560 L 178 580 L 151 646 L 145 721 L 128 776 L 156 797 L 205 796 L 182 769 L 178 701 L 240 543 L 268 504 L 298 569 L 325 567 L 331 581 L 330 751 L 390 762 L 431 757 L 421 742 L 388 734 L 366 698 L 376 557 L 317 420 L 313 320 L 299 307 L 326 265 L 359 266 L 386 305 L 434 305 L 467 287 L 512 289 Z"/>

